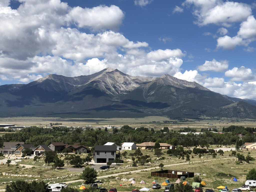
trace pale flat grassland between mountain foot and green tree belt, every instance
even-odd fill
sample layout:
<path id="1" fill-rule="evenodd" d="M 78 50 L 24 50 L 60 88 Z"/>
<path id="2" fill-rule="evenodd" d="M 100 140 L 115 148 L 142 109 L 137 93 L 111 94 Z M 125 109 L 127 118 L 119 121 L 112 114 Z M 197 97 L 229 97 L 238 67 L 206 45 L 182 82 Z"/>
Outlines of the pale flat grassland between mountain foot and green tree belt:
<path id="1" fill-rule="evenodd" d="M 62 123 L 65 126 L 87 126 L 92 127 L 97 126 L 107 126 L 107 125 L 129 125 L 132 127 L 149 127 L 155 129 L 162 129 L 164 126 L 169 127 L 169 129 L 180 130 L 182 127 L 190 127 L 200 131 L 202 128 L 216 128 L 219 131 L 223 127 L 228 127 L 230 125 L 254 127 L 256 126 L 255 120 L 238 120 L 238 119 L 227 119 L 222 118 L 220 120 L 190 120 L 191 122 L 178 122 L 177 124 L 163 123 L 163 121 L 170 120 L 167 117 L 162 116 L 148 116 L 144 118 L 44 118 L 44 117 L 16 117 L 16 118 L 0 118 L 0 123 L 2 124 L 15 124 L 17 126 L 45 126 L 50 123 Z M 209 125 L 212 124 L 212 125 Z M 2 134 L 2 133 L 0 133 Z"/>

